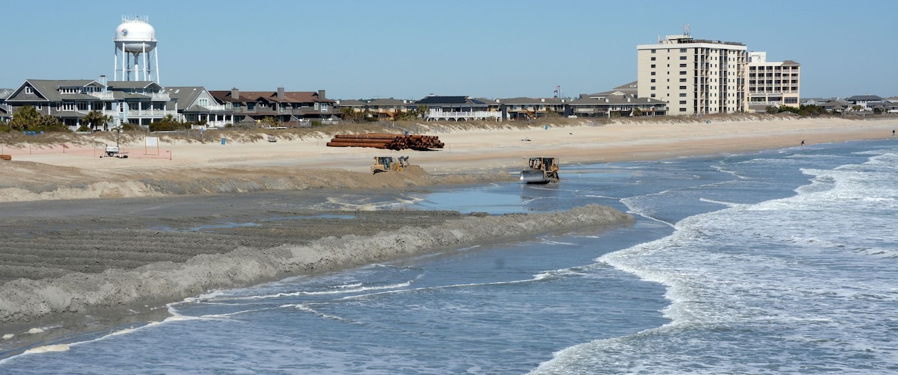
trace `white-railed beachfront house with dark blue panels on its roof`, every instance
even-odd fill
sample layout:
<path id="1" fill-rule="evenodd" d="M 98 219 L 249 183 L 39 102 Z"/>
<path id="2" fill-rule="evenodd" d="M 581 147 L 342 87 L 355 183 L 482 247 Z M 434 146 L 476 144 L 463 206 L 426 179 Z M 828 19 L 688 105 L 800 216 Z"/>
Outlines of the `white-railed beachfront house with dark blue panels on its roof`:
<path id="1" fill-rule="evenodd" d="M 502 113 L 490 110 L 487 102 L 473 99 L 470 96 L 437 96 L 428 95 L 416 100 L 414 106 L 427 106 L 427 121 L 469 121 L 502 119 Z"/>

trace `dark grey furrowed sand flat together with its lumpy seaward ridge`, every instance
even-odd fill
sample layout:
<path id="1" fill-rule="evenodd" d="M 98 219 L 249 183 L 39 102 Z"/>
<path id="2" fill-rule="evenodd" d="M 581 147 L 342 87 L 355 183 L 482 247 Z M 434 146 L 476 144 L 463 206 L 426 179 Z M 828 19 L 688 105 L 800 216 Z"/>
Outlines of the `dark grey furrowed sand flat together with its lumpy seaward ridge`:
<path id="1" fill-rule="evenodd" d="M 628 214 L 599 205 L 551 214 L 497 216 L 416 211 L 344 214 L 354 218 L 298 219 L 273 230 L 260 226 L 217 232 L 147 229 L 136 223 L 138 219 L 116 224 L 137 228 L 40 230 L 52 228 L 48 223 L 64 227 L 72 222 L 33 215 L 20 218 L 13 228 L 6 225 L 0 257 L 4 275 L 27 278 L 0 285 L 0 326 L 23 327 L 41 318 L 97 309 L 159 306 L 214 289 L 289 275 L 531 238 L 547 230 L 633 221 Z M 66 220 L 90 221 L 91 217 Z M 148 219 L 145 222 L 156 218 Z M 115 223 L 114 217 L 105 220 L 107 225 Z M 172 223 L 179 220 L 184 217 Z M 313 240 L 329 233 L 344 235 Z"/>

